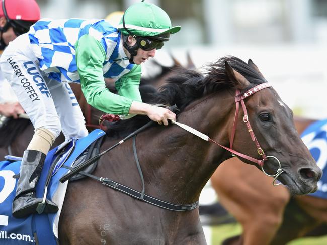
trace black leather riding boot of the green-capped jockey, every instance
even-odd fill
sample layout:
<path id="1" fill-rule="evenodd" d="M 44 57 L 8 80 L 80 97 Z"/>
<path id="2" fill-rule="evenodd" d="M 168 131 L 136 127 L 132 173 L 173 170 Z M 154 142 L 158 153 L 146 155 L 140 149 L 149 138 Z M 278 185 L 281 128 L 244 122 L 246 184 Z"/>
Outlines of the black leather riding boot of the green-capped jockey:
<path id="1" fill-rule="evenodd" d="M 42 198 L 36 198 L 36 184 L 40 178 L 46 155 L 36 150 L 24 151 L 20 168 L 20 177 L 16 188 L 16 197 L 13 201 L 13 216 L 23 218 L 36 212 Z M 46 200 L 45 211 L 55 213 L 58 206 Z"/>

